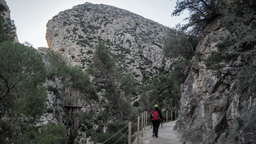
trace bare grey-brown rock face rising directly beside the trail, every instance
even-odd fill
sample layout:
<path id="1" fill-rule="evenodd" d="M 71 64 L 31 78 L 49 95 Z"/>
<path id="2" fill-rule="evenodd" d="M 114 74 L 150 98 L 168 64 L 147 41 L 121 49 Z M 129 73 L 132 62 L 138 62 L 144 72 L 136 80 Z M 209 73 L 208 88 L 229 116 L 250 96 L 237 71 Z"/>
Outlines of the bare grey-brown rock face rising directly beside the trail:
<path id="1" fill-rule="evenodd" d="M 236 82 L 234 66 L 245 60 L 239 56 L 223 61 L 225 67 L 220 71 L 207 68 L 202 61 L 218 52 L 216 44 L 226 32 L 214 26 L 215 30 L 198 43 L 193 66 L 180 86 L 181 106 L 174 130 L 184 132 L 182 139 L 190 144 L 256 143 L 255 98 L 230 94 Z"/>

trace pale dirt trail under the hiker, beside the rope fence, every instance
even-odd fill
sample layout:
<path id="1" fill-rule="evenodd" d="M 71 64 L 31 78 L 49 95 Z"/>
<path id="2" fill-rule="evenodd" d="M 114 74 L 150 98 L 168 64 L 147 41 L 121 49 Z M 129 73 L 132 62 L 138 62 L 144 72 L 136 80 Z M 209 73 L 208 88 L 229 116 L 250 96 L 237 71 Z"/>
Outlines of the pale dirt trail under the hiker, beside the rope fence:
<path id="1" fill-rule="evenodd" d="M 152 137 L 153 127 L 151 125 L 145 128 L 143 131 L 143 138 L 140 138 L 140 144 L 182 144 L 180 138 L 182 133 L 177 133 L 173 130 L 176 121 L 170 121 L 168 123 L 163 123 L 163 128 L 161 125 L 158 129 L 158 138 Z M 144 130 L 144 129 L 143 129 Z M 134 141 L 137 144 L 137 141 Z"/>

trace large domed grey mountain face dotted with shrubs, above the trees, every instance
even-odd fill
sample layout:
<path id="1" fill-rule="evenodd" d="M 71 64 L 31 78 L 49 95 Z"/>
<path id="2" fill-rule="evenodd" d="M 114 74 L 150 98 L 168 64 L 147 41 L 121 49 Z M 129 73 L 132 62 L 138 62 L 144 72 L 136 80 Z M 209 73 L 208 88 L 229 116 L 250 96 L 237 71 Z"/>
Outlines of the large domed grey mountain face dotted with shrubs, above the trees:
<path id="1" fill-rule="evenodd" d="M 47 23 L 46 40 L 50 49 L 60 51 L 72 65 L 86 67 L 91 53 L 99 42 L 104 42 L 112 54 L 122 57 L 120 65 L 129 67 L 142 82 L 144 67 L 163 67 L 169 70 L 171 63 L 162 55 L 162 47 L 168 28 L 127 10 L 103 4 L 85 3 L 60 12 Z M 127 50 L 130 50 L 129 52 Z M 144 62 L 143 62 L 144 63 Z M 151 63 L 151 64 L 150 64 Z M 131 71 L 132 70 L 132 71 Z M 155 71 L 146 70 L 147 74 Z"/>

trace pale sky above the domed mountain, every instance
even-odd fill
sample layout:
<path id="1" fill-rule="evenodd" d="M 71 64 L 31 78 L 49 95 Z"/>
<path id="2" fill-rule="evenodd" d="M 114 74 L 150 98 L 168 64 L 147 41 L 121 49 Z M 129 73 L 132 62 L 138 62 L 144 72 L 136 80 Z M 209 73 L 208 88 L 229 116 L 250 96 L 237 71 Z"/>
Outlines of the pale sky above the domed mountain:
<path id="1" fill-rule="evenodd" d="M 49 19 L 75 5 L 89 2 L 106 4 L 129 10 L 164 26 L 174 27 L 175 24 L 185 23 L 183 14 L 171 17 L 176 5 L 175 0 L 5 0 L 11 11 L 10 17 L 17 27 L 20 43 L 28 41 L 34 48 L 48 47 L 45 33 Z"/>

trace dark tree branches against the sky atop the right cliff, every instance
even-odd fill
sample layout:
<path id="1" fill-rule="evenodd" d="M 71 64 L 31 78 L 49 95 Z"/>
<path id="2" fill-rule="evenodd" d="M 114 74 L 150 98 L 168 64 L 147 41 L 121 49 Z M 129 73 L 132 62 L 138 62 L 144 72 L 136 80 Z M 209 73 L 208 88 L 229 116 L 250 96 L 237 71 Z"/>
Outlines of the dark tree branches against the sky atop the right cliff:
<path id="1" fill-rule="evenodd" d="M 183 29 L 189 28 L 190 35 L 199 35 L 208 24 L 221 16 L 221 6 L 224 2 L 223 0 L 180 0 L 176 2 L 172 16 L 179 16 L 184 10 L 188 10 L 189 17 L 185 18 L 188 23 Z"/>

